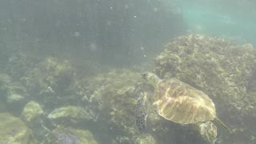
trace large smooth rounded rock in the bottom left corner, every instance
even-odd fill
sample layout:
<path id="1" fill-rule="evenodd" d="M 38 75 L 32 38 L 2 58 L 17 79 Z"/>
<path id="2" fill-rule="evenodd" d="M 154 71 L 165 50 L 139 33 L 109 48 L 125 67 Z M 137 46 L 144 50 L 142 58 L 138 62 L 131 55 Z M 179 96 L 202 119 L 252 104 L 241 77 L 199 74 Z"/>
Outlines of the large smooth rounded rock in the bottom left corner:
<path id="1" fill-rule="evenodd" d="M 0 142 L 1 143 L 26 143 L 34 144 L 31 131 L 22 120 L 11 114 L 0 114 Z"/>

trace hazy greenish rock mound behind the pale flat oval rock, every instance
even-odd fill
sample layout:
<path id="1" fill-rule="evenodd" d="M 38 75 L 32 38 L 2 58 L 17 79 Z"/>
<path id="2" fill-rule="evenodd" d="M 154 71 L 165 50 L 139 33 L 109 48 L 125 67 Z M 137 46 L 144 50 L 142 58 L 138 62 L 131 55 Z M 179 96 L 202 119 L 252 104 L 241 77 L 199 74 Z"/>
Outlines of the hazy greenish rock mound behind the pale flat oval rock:
<path id="1" fill-rule="evenodd" d="M 21 78 L 21 82 L 30 95 L 33 95 L 34 100 L 42 103 L 46 111 L 49 111 L 54 106 L 61 106 L 64 102 L 68 104 L 69 101 L 63 97 L 74 93 L 69 89 L 74 70 L 69 61 L 44 58 L 32 70 L 27 71 Z"/>

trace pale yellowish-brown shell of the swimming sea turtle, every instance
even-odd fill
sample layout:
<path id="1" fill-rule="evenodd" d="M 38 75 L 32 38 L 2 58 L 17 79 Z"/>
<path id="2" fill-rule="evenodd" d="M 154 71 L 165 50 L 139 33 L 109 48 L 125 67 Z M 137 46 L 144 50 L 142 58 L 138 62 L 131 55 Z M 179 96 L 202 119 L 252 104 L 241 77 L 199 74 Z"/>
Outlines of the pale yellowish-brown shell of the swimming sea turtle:
<path id="1" fill-rule="evenodd" d="M 153 105 L 163 118 L 181 124 L 216 118 L 214 102 L 208 95 L 175 78 L 158 82 Z"/>

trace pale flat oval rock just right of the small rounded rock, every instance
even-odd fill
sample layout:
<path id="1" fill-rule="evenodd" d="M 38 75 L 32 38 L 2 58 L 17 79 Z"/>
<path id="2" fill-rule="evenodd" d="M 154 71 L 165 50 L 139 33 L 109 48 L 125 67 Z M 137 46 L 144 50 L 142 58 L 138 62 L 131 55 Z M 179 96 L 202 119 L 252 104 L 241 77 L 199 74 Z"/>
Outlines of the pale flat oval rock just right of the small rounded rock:
<path id="1" fill-rule="evenodd" d="M 53 110 L 48 118 L 58 124 L 77 124 L 78 122 L 90 121 L 90 114 L 80 106 L 65 106 Z"/>

